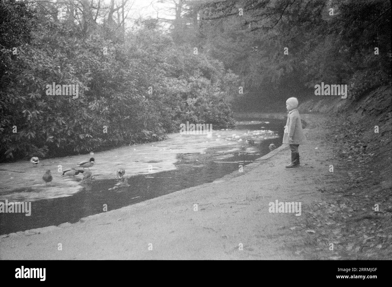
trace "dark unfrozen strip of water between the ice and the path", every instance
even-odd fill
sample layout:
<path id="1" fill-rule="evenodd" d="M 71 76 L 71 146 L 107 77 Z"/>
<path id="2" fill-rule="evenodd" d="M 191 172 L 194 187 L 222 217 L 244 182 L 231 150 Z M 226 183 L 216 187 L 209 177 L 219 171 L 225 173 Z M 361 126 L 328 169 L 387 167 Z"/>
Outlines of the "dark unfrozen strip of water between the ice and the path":
<path id="1" fill-rule="evenodd" d="M 148 178 L 146 175 L 130 177 L 129 187 L 109 190 L 118 180 L 96 180 L 86 183 L 82 191 L 72 196 L 33 201 L 31 216 L 25 216 L 24 213 L 0 213 L 0 234 L 59 225 L 64 222 L 74 223 L 82 217 L 103 212 L 103 204 L 107 204 L 109 211 L 206 182 L 213 182 L 238 170 L 239 165 L 239 163 L 216 163 L 214 161 L 244 161 L 246 165 L 249 162 L 245 161 L 253 161 L 267 154 L 270 143 L 274 143 L 276 147 L 281 145 L 285 123 L 280 120 L 269 119 L 267 121 L 270 123 L 237 125 L 235 129 L 237 131 L 260 130 L 261 127 L 265 127 L 279 135 L 279 138 L 265 139 L 260 144 L 256 144 L 258 155 L 236 152 L 231 157 L 217 160 L 212 154 L 223 150 L 222 147 L 209 148 L 205 154 L 179 154 L 176 170 L 153 173 L 151 174 L 153 178 Z"/>

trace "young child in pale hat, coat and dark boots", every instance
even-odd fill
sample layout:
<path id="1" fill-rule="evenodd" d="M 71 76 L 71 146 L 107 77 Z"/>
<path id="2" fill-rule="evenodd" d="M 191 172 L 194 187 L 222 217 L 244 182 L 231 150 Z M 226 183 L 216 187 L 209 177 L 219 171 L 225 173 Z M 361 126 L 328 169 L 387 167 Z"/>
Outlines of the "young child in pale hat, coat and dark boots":
<path id="1" fill-rule="evenodd" d="M 285 126 L 285 133 L 283 135 L 283 144 L 290 144 L 291 163 L 286 168 L 294 168 L 299 166 L 299 144 L 306 143 L 305 135 L 302 130 L 301 118 L 297 110 L 298 100 L 295 97 L 290 97 L 286 101 L 287 108 L 287 123 Z"/>

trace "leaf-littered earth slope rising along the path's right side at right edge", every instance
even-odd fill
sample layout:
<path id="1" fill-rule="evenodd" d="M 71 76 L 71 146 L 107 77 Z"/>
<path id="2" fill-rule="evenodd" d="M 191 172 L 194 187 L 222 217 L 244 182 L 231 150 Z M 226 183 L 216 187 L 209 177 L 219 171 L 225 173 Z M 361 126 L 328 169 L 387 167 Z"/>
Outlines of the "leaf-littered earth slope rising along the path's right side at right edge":
<path id="1" fill-rule="evenodd" d="M 299 107 L 330 115 L 325 140 L 334 143 L 339 163 L 334 166 L 335 183 L 327 191 L 329 201 L 315 212 L 316 218 L 341 223 L 336 232 L 345 247 L 339 259 L 392 257 L 391 107 L 390 86 L 372 90 L 355 103 L 315 99 Z M 373 210 L 375 204 L 379 211 Z"/>

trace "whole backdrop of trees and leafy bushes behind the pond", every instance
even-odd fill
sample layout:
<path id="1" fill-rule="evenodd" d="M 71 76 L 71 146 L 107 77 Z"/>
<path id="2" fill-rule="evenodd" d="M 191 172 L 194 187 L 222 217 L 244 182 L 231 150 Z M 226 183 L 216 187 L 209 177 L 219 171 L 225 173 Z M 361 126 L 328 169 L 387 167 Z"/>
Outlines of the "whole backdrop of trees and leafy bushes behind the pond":
<path id="1" fill-rule="evenodd" d="M 2 160 L 229 127 L 230 102 L 276 108 L 320 82 L 347 84 L 348 103 L 391 84 L 388 0 L 153 2 L 172 17 L 130 22 L 132 0 L 0 1 Z"/>

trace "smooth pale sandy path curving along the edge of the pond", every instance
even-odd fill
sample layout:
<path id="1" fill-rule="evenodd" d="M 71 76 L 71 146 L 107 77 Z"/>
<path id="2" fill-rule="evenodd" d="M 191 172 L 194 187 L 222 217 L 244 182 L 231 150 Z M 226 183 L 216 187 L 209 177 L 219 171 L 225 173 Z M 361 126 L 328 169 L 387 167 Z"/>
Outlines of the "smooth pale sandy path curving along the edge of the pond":
<path id="1" fill-rule="evenodd" d="M 75 224 L 2 235 L 0 259 L 305 259 L 299 250 L 313 235 L 296 229 L 311 220 L 306 210 L 321 197 L 317 186 L 328 175 L 321 159 L 331 153 L 323 143 L 323 118 L 305 120 L 309 143 L 300 146 L 299 168 L 285 168 L 290 151 L 281 146 L 209 184 Z M 269 213 L 276 199 L 301 202 L 301 216 Z"/>

